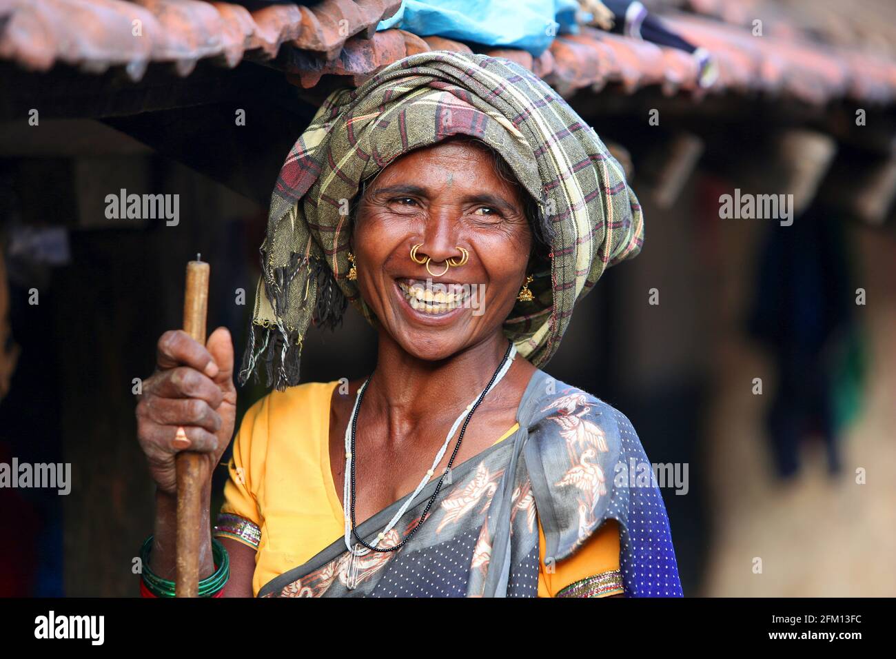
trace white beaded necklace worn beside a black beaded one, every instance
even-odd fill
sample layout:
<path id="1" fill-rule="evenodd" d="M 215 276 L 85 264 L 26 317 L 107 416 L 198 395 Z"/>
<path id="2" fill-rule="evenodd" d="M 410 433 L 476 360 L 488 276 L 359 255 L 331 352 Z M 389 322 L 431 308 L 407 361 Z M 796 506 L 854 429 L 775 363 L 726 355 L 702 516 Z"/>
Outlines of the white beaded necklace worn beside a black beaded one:
<path id="1" fill-rule="evenodd" d="M 460 416 L 458 416 L 457 420 L 454 421 L 451 429 L 448 431 L 448 434 L 445 436 L 444 444 L 435 454 L 435 460 L 433 460 L 432 467 L 426 472 L 426 475 L 420 481 L 420 484 L 417 488 L 409 495 L 408 499 L 405 499 L 404 503 L 401 504 L 398 512 L 392 516 L 392 519 L 389 521 L 389 524 L 383 529 L 382 532 L 378 533 L 375 541 L 372 543 L 374 547 L 378 547 L 379 543 L 385 539 L 387 533 L 392 531 L 392 528 L 398 524 L 398 521 L 401 519 L 407 511 L 410 505 L 413 503 L 414 499 L 417 498 L 417 495 L 426 487 L 426 483 L 433 477 L 435 474 L 435 467 L 442 462 L 442 458 L 445 455 L 445 451 L 448 449 L 448 445 L 451 443 L 454 434 L 457 432 L 457 429 L 461 427 L 461 423 L 467 414 L 470 413 L 470 410 L 473 409 L 473 405 L 482 398 L 485 399 L 488 392 L 495 388 L 499 382 L 501 382 L 504 375 L 510 369 L 513 364 L 513 358 L 516 357 L 516 346 L 511 344 L 511 349 L 507 354 L 506 359 L 504 359 L 504 363 L 501 365 L 501 369 L 498 370 L 497 376 L 495 377 L 495 381 L 491 384 L 491 386 L 487 386 L 482 393 L 480 393 L 476 398 L 473 399 L 473 402 L 467 405 L 464 408 L 463 412 L 461 412 Z M 349 570 L 348 570 L 348 579 L 346 583 L 346 587 L 355 588 L 358 585 L 358 563 L 357 559 L 359 556 L 364 556 L 366 553 L 369 553 L 371 550 L 367 549 L 360 542 L 356 542 L 355 546 L 352 547 L 351 544 L 351 516 L 349 512 L 346 510 L 346 506 L 350 506 L 351 501 L 351 461 L 354 459 L 354 455 L 351 455 L 351 427 L 355 422 L 355 417 L 358 415 L 358 408 L 360 407 L 361 395 L 364 393 L 367 384 L 370 382 L 370 379 L 367 378 L 365 383 L 358 387 L 358 394 L 355 395 L 355 404 L 351 409 L 351 414 L 349 416 L 349 425 L 346 426 L 345 429 L 345 476 L 343 478 L 342 485 L 342 509 L 344 513 L 344 521 L 345 521 L 345 547 L 349 550 L 351 554 L 351 558 L 349 559 Z"/>

